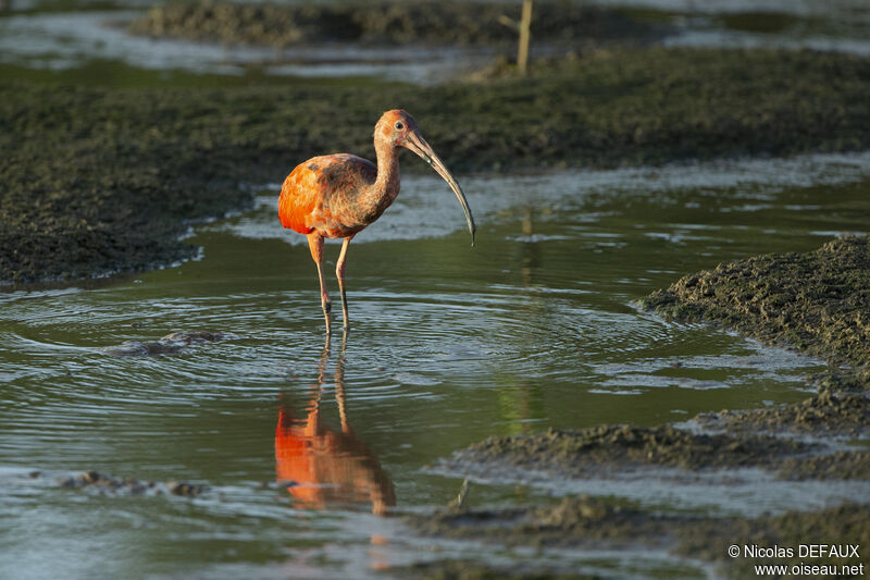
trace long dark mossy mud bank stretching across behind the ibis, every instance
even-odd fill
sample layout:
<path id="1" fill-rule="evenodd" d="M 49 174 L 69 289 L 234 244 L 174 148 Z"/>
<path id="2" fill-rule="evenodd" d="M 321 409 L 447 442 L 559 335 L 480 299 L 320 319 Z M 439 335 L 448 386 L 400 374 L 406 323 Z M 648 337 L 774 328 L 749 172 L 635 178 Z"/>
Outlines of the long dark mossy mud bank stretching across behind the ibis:
<path id="1" fill-rule="evenodd" d="M 243 182 L 279 183 L 323 152 L 372 158 L 372 126 L 390 108 L 411 111 L 461 173 L 865 149 L 868 92 L 868 59 L 683 49 L 594 52 L 531 79 L 425 89 L 0 84 L 0 282 L 190 257 L 178 236 L 250 203 Z"/>

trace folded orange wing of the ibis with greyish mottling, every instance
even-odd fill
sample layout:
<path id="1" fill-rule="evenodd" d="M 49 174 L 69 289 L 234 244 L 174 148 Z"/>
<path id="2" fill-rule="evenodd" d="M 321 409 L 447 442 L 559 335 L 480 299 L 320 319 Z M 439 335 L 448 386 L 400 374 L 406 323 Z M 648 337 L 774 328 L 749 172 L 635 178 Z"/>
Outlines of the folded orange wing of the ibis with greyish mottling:
<path id="1" fill-rule="evenodd" d="M 331 214 L 331 201 L 372 183 L 377 174 L 374 164 L 347 153 L 309 159 L 294 169 L 281 188 L 278 218 L 284 227 L 310 234 L 323 213 Z"/>

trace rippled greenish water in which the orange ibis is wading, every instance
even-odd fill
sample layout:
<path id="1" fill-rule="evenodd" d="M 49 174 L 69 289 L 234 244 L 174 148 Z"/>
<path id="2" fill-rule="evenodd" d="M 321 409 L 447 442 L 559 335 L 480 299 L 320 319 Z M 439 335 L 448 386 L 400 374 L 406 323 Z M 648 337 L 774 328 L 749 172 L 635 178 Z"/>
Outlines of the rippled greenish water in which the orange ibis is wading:
<path id="1" fill-rule="evenodd" d="M 460 182 L 477 246 L 443 182 L 406 177 L 351 244 L 352 331 L 343 337 L 339 310 L 328 345 L 313 264 L 277 223 L 275 187 L 254 211 L 198 227 L 197 261 L 92 289 L 0 294 L 0 577 L 347 578 L 448 556 L 704 577 L 664 553 L 433 542 L 375 514 L 446 505 L 461 474 L 439 473 L 438 459 L 488 435 L 806 398 L 818 361 L 632 301 L 723 260 L 865 229 L 870 155 Z M 235 336 L 158 357 L 98 350 L 176 331 Z M 209 490 L 190 499 L 58 485 L 86 469 Z M 756 493 L 768 476 L 739 477 L 749 483 L 684 492 L 643 479 L 583 490 L 496 480 L 473 483 L 469 504 L 592 491 L 757 514 L 867 493 L 788 482 Z"/>

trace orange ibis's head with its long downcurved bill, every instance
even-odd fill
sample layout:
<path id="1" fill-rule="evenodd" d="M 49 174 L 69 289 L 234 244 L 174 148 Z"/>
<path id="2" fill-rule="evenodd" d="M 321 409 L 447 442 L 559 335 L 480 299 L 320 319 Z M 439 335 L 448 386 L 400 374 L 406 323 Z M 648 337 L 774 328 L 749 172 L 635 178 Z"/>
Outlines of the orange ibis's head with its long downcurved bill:
<path id="1" fill-rule="evenodd" d="M 476 226 L 474 225 L 474 218 L 471 215 L 469 203 L 465 200 L 465 194 L 462 193 L 462 188 L 459 187 L 453 175 L 440 158 L 435 155 L 435 151 L 432 150 L 426 139 L 423 138 L 423 135 L 420 133 L 420 126 L 417 124 L 417 120 L 411 113 L 402 109 L 393 109 L 382 114 L 377 124 L 374 126 L 374 143 L 375 148 L 378 149 L 384 145 L 394 148 L 405 147 L 406 149 L 410 149 L 420 156 L 423 161 L 428 163 L 430 166 L 447 182 L 450 189 L 456 194 L 457 199 L 459 199 L 462 210 L 465 212 L 465 222 L 471 233 L 471 245 L 473 246 Z"/>

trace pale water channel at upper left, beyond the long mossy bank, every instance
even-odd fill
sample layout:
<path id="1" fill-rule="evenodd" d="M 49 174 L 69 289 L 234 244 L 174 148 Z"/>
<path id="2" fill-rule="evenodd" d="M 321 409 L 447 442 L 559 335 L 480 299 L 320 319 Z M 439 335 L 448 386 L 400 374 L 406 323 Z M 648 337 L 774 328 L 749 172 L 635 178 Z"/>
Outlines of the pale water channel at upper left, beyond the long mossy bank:
<path id="1" fill-rule="evenodd" d="M 79 71 L 78 81 L 92 76 L 98 84 L 178 84 L 187 75 L 240 77 L 262 82 L 270 77 L 346 79 L 375 77 L 432 85 L 488 63 L 489 48 L 372 47 L 327 44 L 274 48 L 228 46 L 183 39 L 130 35 L 126 24 L 140 16 L 128 10 L 12 13 L 0 17 L 0 64 L 10 72 Z M 161 72 L 153 78 L 146 72 Z M 0 77 L 2 77 L 0 76 Z M 132 77 L 132 79 L 130 79 Z"/>

